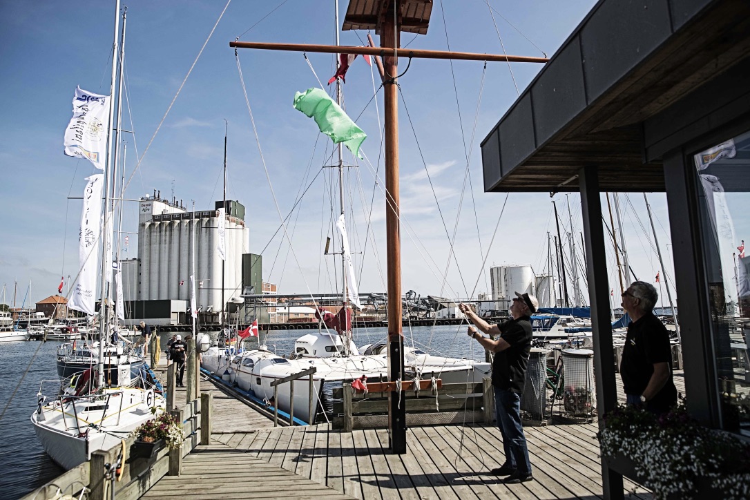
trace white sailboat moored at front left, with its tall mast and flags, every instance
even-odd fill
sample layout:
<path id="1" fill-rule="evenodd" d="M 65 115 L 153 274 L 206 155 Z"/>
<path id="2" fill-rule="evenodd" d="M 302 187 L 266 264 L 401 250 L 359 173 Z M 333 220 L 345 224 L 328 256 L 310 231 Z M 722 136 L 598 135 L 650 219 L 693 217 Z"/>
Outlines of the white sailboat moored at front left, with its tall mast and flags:
<path id="1" fill-rule="evenodd" d="M 118 66 L 118 60 L 122 61 L 122 52 L 118 53 L 118 29 L 119 29 L 119 10 L 120 2 L 116 1 L 115 10 L 115 34 L 113 50 L 113 71 L 110 85 L 111 94 L 114 94 L 115 76 Z M 124 43 L 124 26 L 125 13 L 122 14 L 122 34 Z M 119 56 L 119 57 L 118 57 Z M 121 67 L 121 64 L 120 64 Z M 122 80 L 120 80 L 120 88 Z M 110 160 L 110 166 L 115 164 L 110 157 L 110 144 L 113 130 L 113 102 L 110 102 L 110 96 L 101 96 L 91 94 L 77 88 L 74 97 L 74 106 L 77 101 L 91 103 L 92 107 L 100 106 L 101 109 L 110 105 L 110 113 L 107 116 L 109 121 L 110 134 L 102 133 L 98 139 L 99 144 L 94 148 L 104 148 L 107 151 L 107 158 Z M 75 108 L 74 108 L 75 110 Z M 95 115 L 91 109 L 87 108 L 87 114 Z M 92 116 L 88 117 L 89 119 Z M 76 115 L 74 115 L 74 122 Z M 79 117 L 77 124 L 82 123 L 83 118 Z M 79 125 L 80 126 L 80 125 Z M 102 124 L 97 124 L 101 128 Z M 83 136 L 83 134 L 81 134 Z M 66 152 L 68 136 L 66 136 Z M 82 147 L 83 149 L 83 147 Z M 92 151 L 92 149 L 89 149 Z M 95 162 L 100 160 L 99 155 L 95 159 L 86 154 L 95 166 Z M 104 168 L 104 167 L 103 167 Z M 96 286 L 96 274 L 89 264 L 89 256 L 95 256 L 99 244 L 99 235 L 104 235 L 104 242 L 101 243 L 101 307 L 100 307 L 100 334 L 99 341 L 93 346 L 86 348 L 73 349 L 73 355 L 86 353 L 86 362 L 88 366 L 83 372 L 75 373 L 70 379 L 63 383 L 63 390 L 59 391 L 60 384 L 58 381 L 43 381 L 37 393 L 37 409 L 31 414 L 31 424 L 34 431 L 43 446 L 46 453 L 55 463 L 65 469 L 85 462 L 91 458 L 92 452 L 98 450 L 107 450 L 113 448 L 127 435 L 136 429 L 140 424 L 154 418 L 155 415 L 164 412 L 166 409 L 166 400 L 159 394 L 154 385 L 143 379 L 136 377 L 133 379 L 130 374 L 131 364 L 127 357 L 112 356 L 117 352 L 108 351 L 112 346 L 107 346 L 106 337 L 110 334 L 110 318 L 107 314 L 109 309 L 107 305 L 107 279 L 104 276 L 109 271 L 110 256 L 107 256 L 107 223 L 108 214 L 101 214 L 101 190 L 107 184 L 107 178 L 110 177 L 111 168 L 105 169 L 104 182 L 103 175 L 92 175 L 89 177 L 85 190 L 84 213 L 81 223 L 81 256 L 82 270 L 77 280 L 73 298 L 69 303 L 70 307 L 77 310 L 83 310 L 86 313 L 94 312 L 94 290 Z M 105 191 L 105 207 L 108 208 L 110 201 L 109 187 Z M 98 224 L 101 220 L 102 231 L 98 231 Z M 89 239 L 87 240 L 87 237 Z M 95 261 L 95 259 L 93 259 Z M 94 272 L 92 272 L 94 271 Z M 110 271 L 111 272 L 111 271 Z M 92 279 L 93 278 L 93 279 Z M 116 349 L 116 348 L 115 348 Z M 95 355 L 95 352 L 98 354 Z M 59 354 L 59 353 L 58 353 Z M 107 360 L 116 359 L 116 363 L 107 366 Z M 58 364 L 59 367 L 59 364 Z M 45 392 L 50 396 L 46 396 Z"/>

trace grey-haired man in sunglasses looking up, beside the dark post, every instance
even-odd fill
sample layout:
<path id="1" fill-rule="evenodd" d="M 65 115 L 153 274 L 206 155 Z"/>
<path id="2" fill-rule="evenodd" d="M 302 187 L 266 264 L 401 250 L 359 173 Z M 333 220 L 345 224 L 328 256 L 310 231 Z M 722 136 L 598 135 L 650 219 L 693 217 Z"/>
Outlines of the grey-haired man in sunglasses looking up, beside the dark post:
<path id="1" fill-rule="evenodd" d="M 667 412 L 677 403 L 672 380 L 672 352 L 667 328 L 652 313 L 658 293 L 650 283 L 636 281 L 622 292 L 622 309 L 632 322 L 622 349 L 620 375 L 628 405 Z"/>

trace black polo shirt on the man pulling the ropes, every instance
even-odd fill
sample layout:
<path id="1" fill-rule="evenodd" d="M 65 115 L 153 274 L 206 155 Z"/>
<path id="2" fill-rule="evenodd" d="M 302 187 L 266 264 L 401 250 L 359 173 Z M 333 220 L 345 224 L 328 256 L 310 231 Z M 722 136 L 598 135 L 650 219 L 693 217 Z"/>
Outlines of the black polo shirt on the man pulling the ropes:
<path id="1" fill-rule="evenodd" d="M 531 352 L 531 318 L 521 316 L 497 325 L 500 338 L 510 344 L 508 349 L 496 352 L 492 362 L 492 385 L 497 388 L 523 393 L 526 383 L 526 365 Z"/>

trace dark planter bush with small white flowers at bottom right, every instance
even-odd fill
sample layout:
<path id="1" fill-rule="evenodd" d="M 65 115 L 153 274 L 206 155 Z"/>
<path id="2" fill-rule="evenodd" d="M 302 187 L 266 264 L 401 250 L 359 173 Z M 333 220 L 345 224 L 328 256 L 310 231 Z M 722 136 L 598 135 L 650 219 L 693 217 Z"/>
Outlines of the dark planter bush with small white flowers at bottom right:
<path id="1" fill-rule="evenodd" d="M 750 498 L 750 445 L 701 426 L 682 403 L 663 415 L 619 406 L 597 437 L 607 465 L 656 499 Z"/>

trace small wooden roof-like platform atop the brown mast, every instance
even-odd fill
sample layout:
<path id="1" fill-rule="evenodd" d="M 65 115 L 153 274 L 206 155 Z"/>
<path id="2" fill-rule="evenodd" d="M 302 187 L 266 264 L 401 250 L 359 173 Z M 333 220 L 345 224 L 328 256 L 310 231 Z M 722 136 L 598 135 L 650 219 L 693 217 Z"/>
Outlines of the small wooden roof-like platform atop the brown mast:
<path id="1" fill-rule="evenodd" d="M 381 34 L 380 22 L 386 15 L 389 0 L 350 0 L 342 30 L 372 29 Z M 401 0 L 399 29 L 408 33 L 427 34 L 432 0 Z"/>

